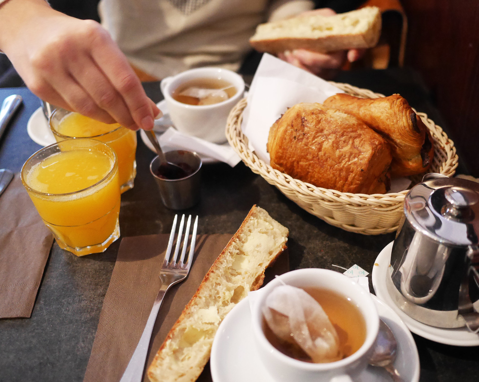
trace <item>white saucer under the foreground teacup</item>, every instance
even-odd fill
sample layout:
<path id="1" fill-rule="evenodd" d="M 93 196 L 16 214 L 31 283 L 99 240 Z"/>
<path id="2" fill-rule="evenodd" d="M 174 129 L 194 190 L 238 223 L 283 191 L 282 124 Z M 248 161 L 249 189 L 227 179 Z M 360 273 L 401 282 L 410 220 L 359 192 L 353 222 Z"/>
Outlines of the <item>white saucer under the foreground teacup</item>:
<path id="1" fill-rule="evenodd" d="M 419 356 L 414 339 L 404 322 L 376 296 L 371 295 L 379 317 L 391 328 L 398 341 L 395 366 L 404 381 L 419 381 Z M 251 333 L 248 298 L 235 306 L 221 322 L 213 341 L 210 358 L 213 382 L 275 382 L 258 358 Z M 389 382 L 381 369 L 368 366 L 356 382 Z"/>

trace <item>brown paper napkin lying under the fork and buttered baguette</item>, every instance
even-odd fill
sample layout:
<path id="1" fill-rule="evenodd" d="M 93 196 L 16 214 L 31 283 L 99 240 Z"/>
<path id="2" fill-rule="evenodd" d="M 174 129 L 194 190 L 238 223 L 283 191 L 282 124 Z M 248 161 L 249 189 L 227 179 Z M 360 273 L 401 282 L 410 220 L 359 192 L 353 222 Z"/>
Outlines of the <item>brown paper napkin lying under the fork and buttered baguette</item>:
<path id="1" fill-rule="evenodd" d="M 83 382 L 120 381 L 160 290 L 159 274 L 168 237 L 161 234 L 122 240 Z M 147 367 L 231 237 L 231 234 L 198 235 L 190 275 L 171 287 L 161 305 L 151 336 Z M 271 274 L 289 270 L 287 253 L 278 258 L 273 268 Z M 144 381 L 148 381 L 146 375 Z M 209 369 L 205 368 L 198 381 L 211 381 Z"/>

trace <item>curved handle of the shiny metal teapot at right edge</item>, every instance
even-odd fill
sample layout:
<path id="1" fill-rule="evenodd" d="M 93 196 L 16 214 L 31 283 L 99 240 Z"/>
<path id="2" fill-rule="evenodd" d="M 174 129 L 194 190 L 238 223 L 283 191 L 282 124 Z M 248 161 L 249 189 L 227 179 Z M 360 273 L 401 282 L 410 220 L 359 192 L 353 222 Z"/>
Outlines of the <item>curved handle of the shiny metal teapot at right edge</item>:
<path id="1" fill-rule="evenodd" d="M 479 333 L 479 312 L 474 310 L 471 298 L 469 296 L 470 277 L 475 277 L 479 282 L 479 248 L 470 246 L 466 256 L 465 272 L 459 287 L 459 304 L 457 312 L 466 321 L 468 330 L 472 333 Z M 472 273 L 472 275 L 471 275 Z"/>

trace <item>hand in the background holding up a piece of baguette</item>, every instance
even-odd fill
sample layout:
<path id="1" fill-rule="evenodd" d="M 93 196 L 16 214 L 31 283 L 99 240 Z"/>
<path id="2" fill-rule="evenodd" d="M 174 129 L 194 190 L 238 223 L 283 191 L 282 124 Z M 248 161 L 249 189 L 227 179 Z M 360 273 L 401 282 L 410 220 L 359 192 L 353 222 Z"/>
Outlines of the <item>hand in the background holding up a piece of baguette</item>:
<path id="1" fill-rule="evenodd" d="M 300 15 L 320 14 L 323 16 L 331 16 L 336 14 L 330 8 L 316 9 L 313 11 L 303 12 Z M 298 15 L 299 16 L 299 15 Z M 337 52 L 318 53 L 306 49 L 286 50 L 278 54 L 278 58 L 289 62 L 320 77 L 330 79 L 334 74 L 342 68 L 346 60 L 354 62 L 363 57 L 365 49 L 340 50 Z"/>

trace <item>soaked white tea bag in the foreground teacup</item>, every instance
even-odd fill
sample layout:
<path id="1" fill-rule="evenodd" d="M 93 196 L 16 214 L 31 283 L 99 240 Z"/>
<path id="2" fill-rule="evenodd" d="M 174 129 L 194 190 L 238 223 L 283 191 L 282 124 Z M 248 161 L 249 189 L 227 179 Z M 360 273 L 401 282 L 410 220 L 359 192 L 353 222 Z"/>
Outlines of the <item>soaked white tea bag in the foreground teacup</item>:
<path id="1" fill-rule="evenodd" d="M 299 346 L 315 363 L 342 359 L 339 338 L 318 301 L 303 289 L 290 285 L 275 287 L 262 313 L 273 333 Z"/>

